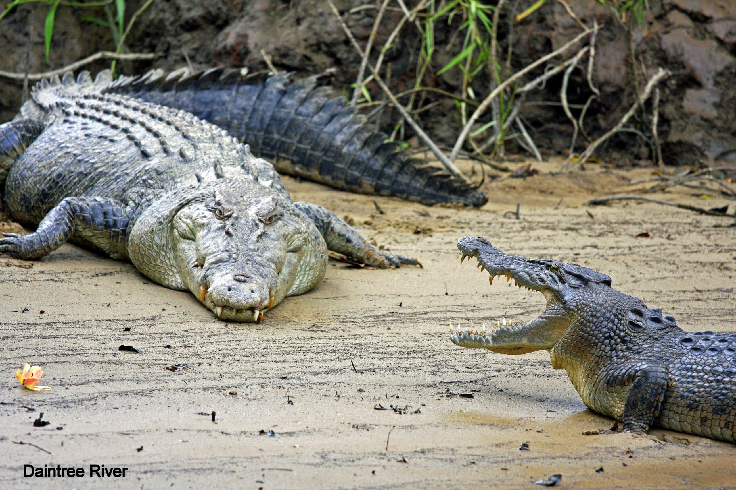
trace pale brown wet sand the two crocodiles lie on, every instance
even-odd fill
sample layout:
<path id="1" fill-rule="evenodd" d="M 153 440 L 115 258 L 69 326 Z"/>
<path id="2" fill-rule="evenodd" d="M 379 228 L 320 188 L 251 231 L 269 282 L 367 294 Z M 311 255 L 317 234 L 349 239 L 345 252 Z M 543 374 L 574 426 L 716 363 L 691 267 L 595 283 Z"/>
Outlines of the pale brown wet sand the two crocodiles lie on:
<path id="1" fill-rule="evenodd" d="M 460 264 L 466 234 L 607 273 L 686 330 L 736 331 L 736 228 L 714 227 L 732 220 L 581 206 L 646 175 L 505 179 L 486 184 L 491 203 L 479 210 L 286 179 L 294 200 L 347 215 L 425 268 L 330 261 L 319 287 L 260 324 L 223 323 L 193 295 L 74 245 L 35 263 L 0 256 L 0 488 L 534 489 L 557 473 L 559 489 L 736 488 L 735 445 L 659 429 L 584 435 L 612 419 L 587 411 L 547 353 L 502 356 L 447 338 L 448 320 L 528 320 L 543 304 Z M 678 192 L 655 197 L 728 203 Z M 504 217 L 517 202 L 520 219 Z M 24 361 L 43 367 L 52 391 L 20 387 Z M 188 369 L 165 369 L 174 364 Z M 40 412 L 51 425 L 33 427 Z M 24 464 L 128 470 L 23 478 Z"/>

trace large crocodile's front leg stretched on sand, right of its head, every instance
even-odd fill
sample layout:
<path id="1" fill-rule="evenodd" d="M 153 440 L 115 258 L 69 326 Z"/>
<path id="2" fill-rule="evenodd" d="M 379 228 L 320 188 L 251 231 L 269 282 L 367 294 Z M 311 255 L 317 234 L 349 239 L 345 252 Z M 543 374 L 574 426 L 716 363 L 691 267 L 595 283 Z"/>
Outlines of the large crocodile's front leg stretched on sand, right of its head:
<path id="1" fill-rule="evenodd" d="M 372 267 L 381 267 L 381 269 L 400 267 L 401 265 L 422 267 L 417 259 L 378 250 L 361 237 L 352 226 L 345 223 L 342 218 L 322 206 L 303 201 L 294 203 L 294 206 L 297 206 L 297 209 L 314 222 L 319 232 L 322 233 L 322 237 L 325 237 L 327 248 L 331 251 L 342 253 L 351 259 Z"/>

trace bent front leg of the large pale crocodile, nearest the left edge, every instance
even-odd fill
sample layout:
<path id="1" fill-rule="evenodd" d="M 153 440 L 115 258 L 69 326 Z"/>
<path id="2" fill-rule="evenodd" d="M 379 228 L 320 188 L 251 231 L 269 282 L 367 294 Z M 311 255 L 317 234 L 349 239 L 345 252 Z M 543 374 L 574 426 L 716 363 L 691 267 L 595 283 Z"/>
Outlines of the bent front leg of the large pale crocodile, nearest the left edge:
<path id="1" fill-rule="evenodd" d="M 40 259 L 74 237 L 95 245 L 113 259 L 125 259 L 132 215 L 129 207 L 113 199 L 66 198 L 38 223 L 34 233 L 4 234 L 0 252 L 18 259 Z"/>

